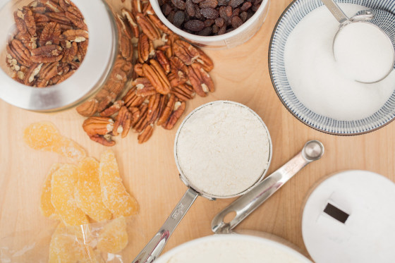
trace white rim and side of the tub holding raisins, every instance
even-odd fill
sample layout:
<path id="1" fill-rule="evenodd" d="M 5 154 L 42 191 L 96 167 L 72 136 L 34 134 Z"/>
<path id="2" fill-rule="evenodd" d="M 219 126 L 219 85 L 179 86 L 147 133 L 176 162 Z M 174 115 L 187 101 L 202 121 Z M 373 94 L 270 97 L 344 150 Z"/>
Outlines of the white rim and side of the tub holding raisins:
<path id="1" fill-rule="evenodd" d="M 169 0 L 168 0 L 169 1 Z M 267 12 L 269 11 L 269 0 L 262 0 L 257 11 L 245 20 L 245 22 L 230 32 L 226 32 L 223 35 L 210 35 L 200 36 L 190 32 L 186 32 L 179 27 L 173 25 L 162 12 L 161 6 L 159 6 L 158 0 L 150 0 L 152 8 L 162 22 L 169 27 L 177 35 L 181 35 L 188 41 L 196 44 L 199 47 L 207 49 L 230 49 L 243 44 L 248 41 L 255 33 L 260 29 L 262 24 L 265 22 Z M 240 5 L 241 6 L 241 5 Z M 234 10 L 235 8 L 232 8 Z M 229 29 L 228 29 L 229 30 Z"/>

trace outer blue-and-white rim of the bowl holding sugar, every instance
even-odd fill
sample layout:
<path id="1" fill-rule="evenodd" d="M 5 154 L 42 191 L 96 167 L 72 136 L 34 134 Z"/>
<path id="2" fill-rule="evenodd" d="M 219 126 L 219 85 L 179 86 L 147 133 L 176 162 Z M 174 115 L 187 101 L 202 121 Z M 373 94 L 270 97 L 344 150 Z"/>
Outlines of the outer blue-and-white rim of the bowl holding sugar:
<path id="1" fill-rule="evenodd" d="M 301 123 L 305 124 L 306 126 L 313 128 L 314 130 L 318 130 L 321 133 L 327 133 L 329 135 L 337 135 L 337 136 L 356 136 L 356 135 L 364 135 L 367 133 L 372 133 L 375 130 L 379 130 L 380 128 L 383 128 L 384 126 L 387 126 L 389 123 L 391 123 L 392 121 L 394 121 L 395 117 L 391 118 L 391 120 L 387 121 L 386 123 L 377 126 L 375 128 L 372 128 L 370 130 L 365 130 L 365 131 L 360 131 L 358 133 L 334 133 L 331 132 L 329 130 L 323 130 L 321 128 L 317 128 L 315 126 L 312 126 L 310 123 L 307 123 L 305 121 L 303 121 L 301 118 L 299 118 L 293 111 L 291 111 L 291 109 L 289 109 L 289 107 L 286 105 L 286 103 L 284 102 L 284 99 L 281 97 L 281 94 L 279 94 L 279 91 L 277 90 L 277 85 L 274 82 L 274 76 L 272 73 L 272 64 L 271 64 L 271 56 L 270 54 L 272 53 L 272 46 L 273 46 L 273 39 L 274 39 L 274 35 L 277 32 L 277 28 L 279 27 L 279 23 L 281 22 L 281 20 L 284 18 L 284 16 L 286 15 L 286 13 L 288 12 L 288 10 L 296 3 L 296 1 L 303 1 L 303 0 L 293 0 L 291 2 L 291 4 L 289 4 L 283 11 L 283 13 L 281 13 L 281 16 L 279 17 L 279 19 L 277 20 L 276 25 L 274 25 L 273 31 L 272 31 L 272 36 L 270 37 L 270 42 L 269 42 L 269 51 L 268 51 L 268 56 L 267 56 L 267 64 L 269 66 L 269 75 L 270 75 L 270 80 L 272 80 L 272 86 L 274 91 L 277 94 L 277 97 L 279 97 L 281 104 L 283 104 L 283 106 L 292 114 L 293 117 L 295 117 L 298 121 L 300 121 Z"/>

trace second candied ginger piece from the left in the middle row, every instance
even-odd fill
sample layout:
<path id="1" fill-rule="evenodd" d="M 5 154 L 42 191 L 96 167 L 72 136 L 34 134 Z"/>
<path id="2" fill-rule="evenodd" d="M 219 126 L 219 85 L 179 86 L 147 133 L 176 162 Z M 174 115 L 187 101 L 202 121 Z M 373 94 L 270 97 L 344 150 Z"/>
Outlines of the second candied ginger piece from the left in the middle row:
<path id="1" fill-rule="evenodd" d="M 78 181 L 78 169 L 73 164 L 64 164 L 52 174 L 51 202 L 66 226 L 88 224 L 84 212 L 77 207 L 74 188 Z"/>

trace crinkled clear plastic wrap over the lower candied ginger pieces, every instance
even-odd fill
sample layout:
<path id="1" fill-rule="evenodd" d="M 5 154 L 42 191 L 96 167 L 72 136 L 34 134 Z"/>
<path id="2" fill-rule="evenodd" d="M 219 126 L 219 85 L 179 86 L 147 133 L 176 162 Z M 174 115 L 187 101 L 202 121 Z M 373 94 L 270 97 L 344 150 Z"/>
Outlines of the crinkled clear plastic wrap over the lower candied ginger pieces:
<path id="1" fill-rule="evenodd" d="M 46 228 L 1 238 L 0 262 L 131 262 L 138 252 L 134 240 L 142 238 L 137 220 L 128 216 L 82 226 L 52 220 Z"/>

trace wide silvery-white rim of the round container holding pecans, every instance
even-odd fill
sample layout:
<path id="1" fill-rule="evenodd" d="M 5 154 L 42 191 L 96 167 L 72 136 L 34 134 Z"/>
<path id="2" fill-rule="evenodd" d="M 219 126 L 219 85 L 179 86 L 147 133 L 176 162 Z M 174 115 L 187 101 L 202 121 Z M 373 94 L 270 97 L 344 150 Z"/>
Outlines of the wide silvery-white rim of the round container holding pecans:
<path id="1" fill-rule="evenodd" d="M 29 4 L 27 1 L 24 4 Z M 5 60 L 9 32 L 15 24 L 13 12 L 19 1 L 0 0 L 0 59 Z M 83 63 L 70 78 L 45 88 L 28 87 L 0 69 L 0 98 L 31 111 L 59 111 L 82 102 L 101 87 L 113 65 L 118 39 L 109 7 L 102 0 L 73 0 L 85 18 L 89 45 Z M 15 10 L 14 10 L 15 9 Z"/>

